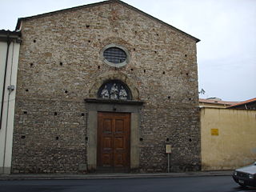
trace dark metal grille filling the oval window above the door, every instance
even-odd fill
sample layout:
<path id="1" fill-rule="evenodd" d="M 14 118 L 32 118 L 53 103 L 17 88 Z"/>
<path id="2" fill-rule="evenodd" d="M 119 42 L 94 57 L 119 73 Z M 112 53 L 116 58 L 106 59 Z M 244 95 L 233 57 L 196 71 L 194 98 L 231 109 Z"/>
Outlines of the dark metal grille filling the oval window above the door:
<path id="1" fill-rule="evenodd" d="M 104 58 L 108 62 L 118 64 L 126 61 L 126 52 L 118 47 L 110 47 L 103 52 Z"/>

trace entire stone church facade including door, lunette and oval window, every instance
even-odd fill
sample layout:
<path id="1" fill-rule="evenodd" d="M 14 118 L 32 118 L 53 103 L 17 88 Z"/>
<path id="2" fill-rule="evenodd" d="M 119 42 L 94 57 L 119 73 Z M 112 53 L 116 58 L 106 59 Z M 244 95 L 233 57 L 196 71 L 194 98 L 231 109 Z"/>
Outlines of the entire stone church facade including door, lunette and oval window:
<path id="1" fill-rule="evenodd" d="M 197 38 L 117 0 L 16 30 L 12 173 L 201 169 Z"/>

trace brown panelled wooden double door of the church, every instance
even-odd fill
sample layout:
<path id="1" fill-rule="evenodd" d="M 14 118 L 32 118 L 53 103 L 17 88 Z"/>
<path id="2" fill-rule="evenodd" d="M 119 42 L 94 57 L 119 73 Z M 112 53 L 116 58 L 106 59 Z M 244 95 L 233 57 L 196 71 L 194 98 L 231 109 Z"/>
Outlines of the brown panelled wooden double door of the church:
<path id="1" fill-rule="evenodd" d="M 98 112 L 97 170 L 130 171 L 130 114 Z"/>

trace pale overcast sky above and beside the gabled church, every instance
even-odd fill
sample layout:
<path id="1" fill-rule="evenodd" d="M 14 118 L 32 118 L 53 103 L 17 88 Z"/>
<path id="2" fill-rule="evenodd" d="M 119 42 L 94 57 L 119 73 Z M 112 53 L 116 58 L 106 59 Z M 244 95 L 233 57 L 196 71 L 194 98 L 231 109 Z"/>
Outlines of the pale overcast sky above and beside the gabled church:
<path id="1" fill-rule="evenodd" d="M 0 30 L 18 18 L 97 0 L 0 0 Z M 244 101 L 256 97 L 256 0 L 123 0 L 175 26 L 198 42 L 200 98 Z"/>

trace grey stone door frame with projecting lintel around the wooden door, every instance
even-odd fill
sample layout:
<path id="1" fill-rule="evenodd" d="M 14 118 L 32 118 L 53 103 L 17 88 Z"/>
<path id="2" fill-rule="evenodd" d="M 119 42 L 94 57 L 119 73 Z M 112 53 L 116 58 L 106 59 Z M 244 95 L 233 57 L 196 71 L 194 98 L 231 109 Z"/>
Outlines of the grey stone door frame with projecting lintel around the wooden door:
<path id="1" fill-rule="evenodd" d="M 98 111 L 130 113 L 130 172 L 139 168 L 139 125 L 143 102 L 87 98 L 87 170 L 97 168 Z"/>

